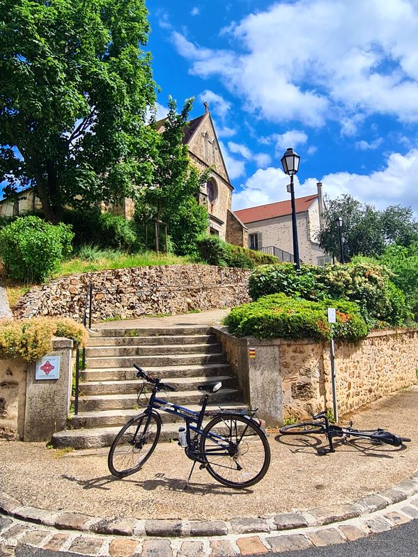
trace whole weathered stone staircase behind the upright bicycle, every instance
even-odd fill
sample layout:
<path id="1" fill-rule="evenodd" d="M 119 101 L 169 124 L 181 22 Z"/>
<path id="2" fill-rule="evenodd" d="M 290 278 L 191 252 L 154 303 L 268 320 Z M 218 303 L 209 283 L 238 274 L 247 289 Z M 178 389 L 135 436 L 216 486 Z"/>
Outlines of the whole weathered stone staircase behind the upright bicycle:
<path id="1" fill-rule="evenodd" d="M 242 408 L 238 381 L 226 363 L 226 355 L 210 327 L 159 329 L 91 329 L 86 348 L 86 370 L 80 372 L 79 413 L 71 414 L 68 428 L 54 434 L 54 447 L 95 448 L 110 446 L 128 418 L 141 411 L 133 364 L 150 375 L 176 386 L 161 398 L 199 411 L 204 394 L 197 386 L 222 381 L 222 389 L 210 396 L 209 408 Z M 160 413 L 160 440 L 177 439 L 182 425 L 176 416 Z M 177 420 L 177 421 L 176 421 Z"/>

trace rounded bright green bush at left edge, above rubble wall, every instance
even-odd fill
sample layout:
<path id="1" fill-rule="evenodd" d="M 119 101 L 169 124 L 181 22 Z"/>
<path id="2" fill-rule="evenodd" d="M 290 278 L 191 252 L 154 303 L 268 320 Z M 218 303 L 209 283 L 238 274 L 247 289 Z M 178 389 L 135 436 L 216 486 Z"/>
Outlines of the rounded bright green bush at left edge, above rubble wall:
<path id="1" fill-rule="evenodd" d="M 44 281 L 72 250 L 71 227 L 21 217 L 0 230 L 0 256 L 15 281 Z"/>

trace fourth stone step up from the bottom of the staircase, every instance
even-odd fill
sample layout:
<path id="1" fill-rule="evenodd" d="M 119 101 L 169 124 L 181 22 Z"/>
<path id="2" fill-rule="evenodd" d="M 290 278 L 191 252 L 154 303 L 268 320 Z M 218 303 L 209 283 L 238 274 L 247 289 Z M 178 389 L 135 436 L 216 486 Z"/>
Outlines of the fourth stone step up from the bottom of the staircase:
<path id="1" fill-rule="evenodd" d="M 167 383 L 176 387 L 176 391 L 195 391 L 201 384 L 222 381 L 224 387 L 237 386 L 237 378 L 234 375 L 218 375 L 217 377 L 168 377 Z M 140 379 L 125 381 L 96 381 L 79 384 L 79 393 L 82 396 L 95 395 L 128 395 L 136 394 L 143 383 Z M 164 391 L 163 391 L 164 392 Z M 164 395 L 162 395 L 164 398 Z"/>

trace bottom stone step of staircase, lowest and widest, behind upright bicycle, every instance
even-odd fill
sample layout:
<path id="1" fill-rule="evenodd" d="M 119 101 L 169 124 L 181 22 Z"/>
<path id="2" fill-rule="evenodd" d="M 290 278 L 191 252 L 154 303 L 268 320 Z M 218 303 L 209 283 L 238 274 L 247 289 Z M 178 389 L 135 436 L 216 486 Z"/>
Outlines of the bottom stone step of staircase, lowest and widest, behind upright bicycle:
<path id="1" fill-rule="evenodd" d="M 209 421 L 209 419 L 203 421 L 203 427 Z M 161 428 L 160 441 L 177 440 L 178 427 L 178 423 L 164 423 Z M 222 430 L 222 425 L 219 425 L 218 428 Z M 120 429 L 121 427 L 94 427 L 86 430 L 60 431 L 52 436 L 52 446 L 75 449 L 109 447 Z M 183 449 L 178 447 L 178 450 Z"/>

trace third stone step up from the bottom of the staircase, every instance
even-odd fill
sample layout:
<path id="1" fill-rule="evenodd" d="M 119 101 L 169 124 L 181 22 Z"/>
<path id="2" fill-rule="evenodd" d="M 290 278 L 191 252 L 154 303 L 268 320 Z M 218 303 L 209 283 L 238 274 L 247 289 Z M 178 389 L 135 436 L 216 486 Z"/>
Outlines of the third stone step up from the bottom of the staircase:
<path id="1" fill-rule="evenodd" d="M 205 393 L 203 391 L 181 391 L 162 393 L 163 400 L 176 402 L 185 406 L 188 404 L 201 404 Z M 145 400 L 145 399 L 144 399 Z M 241 401 L 241 393 L 238 389 L 221 389 L 210 395 L 210 402 L 224 402 L 236 400 Z M 137 395 L 91 395 L 79 397 L 80 412 L 94 412 L 100 410 L 132 409 L 137 407 Z"/>

